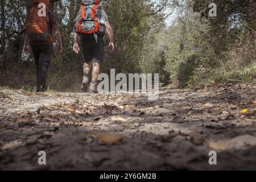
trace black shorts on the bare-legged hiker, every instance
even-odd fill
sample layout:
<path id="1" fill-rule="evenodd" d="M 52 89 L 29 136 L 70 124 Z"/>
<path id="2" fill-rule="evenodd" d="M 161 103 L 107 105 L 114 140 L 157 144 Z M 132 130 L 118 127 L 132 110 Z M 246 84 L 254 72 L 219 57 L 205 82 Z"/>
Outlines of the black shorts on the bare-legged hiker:
<path id="1" fill-rule="evenodd" d="M 101 63 L 104 61 L 104 41 L 102 36 L 98 36 L 98 43 L 94 38 L 81 39 L 82 44 L 82 59 L 87 63 L 92 61 L 93 63 Z"/>

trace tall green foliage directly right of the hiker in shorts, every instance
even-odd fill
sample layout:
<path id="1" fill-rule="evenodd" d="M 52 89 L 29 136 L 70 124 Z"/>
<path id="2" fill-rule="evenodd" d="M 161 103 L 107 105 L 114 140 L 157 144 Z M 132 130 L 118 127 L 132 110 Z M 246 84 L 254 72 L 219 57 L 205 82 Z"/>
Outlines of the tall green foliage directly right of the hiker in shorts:
<path id="1" fill-rule="evenodd" d="M 144 34 L 148 28 L 144 17 L 147 8 L 143 1 L 136 0 L 113 0 L 105 6 L 114 29 L 116 49 L 112 55 L 106 55 L 103 72 L 108 73 L 110 68 L 122 73 L 141 72 L 139 62 L 143 54 Z"/>

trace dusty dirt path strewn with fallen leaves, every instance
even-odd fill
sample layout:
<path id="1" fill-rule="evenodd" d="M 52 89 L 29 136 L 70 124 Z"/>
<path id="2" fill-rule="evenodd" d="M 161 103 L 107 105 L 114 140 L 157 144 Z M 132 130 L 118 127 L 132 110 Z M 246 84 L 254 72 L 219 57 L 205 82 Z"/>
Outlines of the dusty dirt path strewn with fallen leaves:
<path id="1" fill-rule="evenodd" d="M 0 90 L 0 169 L 256 169 L 256 86 L 160 93 Z"/>

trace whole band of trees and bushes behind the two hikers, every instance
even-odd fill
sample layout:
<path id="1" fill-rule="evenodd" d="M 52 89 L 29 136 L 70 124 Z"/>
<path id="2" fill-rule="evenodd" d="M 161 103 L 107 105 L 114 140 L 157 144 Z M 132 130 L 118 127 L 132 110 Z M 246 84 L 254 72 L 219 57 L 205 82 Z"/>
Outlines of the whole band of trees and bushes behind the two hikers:
<path id="1" fill-rule="evenodd" d="M 212 2 L 217 5 L 216 17 L 209 16 Z M 103 6 L 113 26 L 116 49 L 112 54 L 106 49 L 101 72 L 115 68 L 117 73 L 159 73 L 161 82 L 175 87 L 255 79 L 254 0 L 108 0 Z M 30 7 L 30 0 L 1 0 L 2 86 L 35 85 L 32 55 L 22 52 Z M 63 53 L 56 53 L 49 69 L 52 89 L 80 88 L 81 55 L 72 52 L 79 7 L 79 0 L 51 3 L 64 44 Z"/>

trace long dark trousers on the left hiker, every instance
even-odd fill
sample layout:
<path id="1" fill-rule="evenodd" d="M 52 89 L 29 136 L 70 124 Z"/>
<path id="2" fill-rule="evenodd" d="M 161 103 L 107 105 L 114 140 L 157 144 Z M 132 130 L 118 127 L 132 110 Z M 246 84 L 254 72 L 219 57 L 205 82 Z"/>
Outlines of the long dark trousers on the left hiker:
<path id="1" fill-rule="evenodd" d="M 51 63 L 52 46 L 42 44 L 31 46 L 36 65 L 37 92 L 46 91 L 46 75 Z"/>

